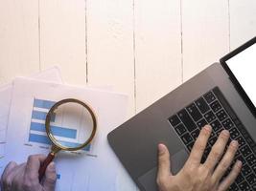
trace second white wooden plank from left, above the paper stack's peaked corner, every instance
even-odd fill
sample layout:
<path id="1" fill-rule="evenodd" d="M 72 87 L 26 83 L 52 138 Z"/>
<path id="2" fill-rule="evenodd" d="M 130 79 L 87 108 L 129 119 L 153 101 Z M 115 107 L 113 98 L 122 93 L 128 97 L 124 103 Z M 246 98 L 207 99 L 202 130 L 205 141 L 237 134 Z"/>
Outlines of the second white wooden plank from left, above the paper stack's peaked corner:
<path id="1" fill-rule="evenodd" d="M 58 65 L 64 81 L 86 83 L 85 1 L 39 0 L 40 63 Z"/>

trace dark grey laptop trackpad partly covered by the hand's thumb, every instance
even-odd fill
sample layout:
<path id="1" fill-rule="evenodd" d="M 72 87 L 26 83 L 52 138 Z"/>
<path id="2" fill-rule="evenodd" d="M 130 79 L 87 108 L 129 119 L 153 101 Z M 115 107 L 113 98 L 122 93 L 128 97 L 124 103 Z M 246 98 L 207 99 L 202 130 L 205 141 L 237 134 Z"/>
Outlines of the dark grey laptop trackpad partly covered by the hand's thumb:
<path id="1" fill-rule="evenodd" d="M 184 149 L 179 150 L 177 153 L 175 153 L 175 155 L 171 156 L 171 168 L 174 175 L 183 167 L 187 159 L 188 153 Z M 139 177 L 138 181 L 146 191 L 158 191 L 156 184 L 156 174 L 157 167 L 154 167 L 146 174 Z"/>

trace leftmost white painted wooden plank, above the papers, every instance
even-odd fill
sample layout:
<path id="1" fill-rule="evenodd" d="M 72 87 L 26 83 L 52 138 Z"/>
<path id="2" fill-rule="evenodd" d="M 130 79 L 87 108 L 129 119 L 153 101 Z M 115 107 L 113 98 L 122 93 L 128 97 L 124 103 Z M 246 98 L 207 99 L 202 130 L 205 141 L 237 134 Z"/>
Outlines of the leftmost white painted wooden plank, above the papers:
<path id="1" fill-rule="evenodd" d="M 39 70 L 38 2 L 0 1 L 0 84 Z"/>

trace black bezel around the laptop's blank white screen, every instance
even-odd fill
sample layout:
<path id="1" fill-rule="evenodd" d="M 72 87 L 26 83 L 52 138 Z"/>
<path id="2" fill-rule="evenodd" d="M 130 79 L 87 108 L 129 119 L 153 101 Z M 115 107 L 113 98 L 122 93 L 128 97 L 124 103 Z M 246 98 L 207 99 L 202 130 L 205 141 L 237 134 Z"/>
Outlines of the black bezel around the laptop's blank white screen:
<path id="1" fill-rule="evenodd" d="M 244 43 L 244 45 L 235 49 L 234 51 L 224 55 L 220 59 L 221 66 L 226 71 L 226 73 L 229 75 L 231 81 L 234 83 L 235 88 L 237 89 L 240 96 L 242 96 L 242 98 L 244 99 L 245 104 L 247 105 L 247 107 L 249 108 L 249 110 L 251 111 L 251 113 L 253 114 L 254 117 L 256 117 L 256 106 L 254 106 L 254 104 L 251 101 L 251 99 L 249 98 L 249 96 L 247 96 L 247 94 L 244 91 L 244 88 L 240 84 L 239 80 L 236 78 L 235 74 L 232 73 L 232 71 L 228 67 L 226 61 L 228 59 L 230 59 L 231 57 L 234 57 L 238 53 L 243 52 L 245 49 L 247 49 L 248 47 L 252 46 L 255 43 L 256 43 L 256 36 L 253 37 L 252 39 L 250 39 L 249 41 L 247 41 L 246 43 Z"/>

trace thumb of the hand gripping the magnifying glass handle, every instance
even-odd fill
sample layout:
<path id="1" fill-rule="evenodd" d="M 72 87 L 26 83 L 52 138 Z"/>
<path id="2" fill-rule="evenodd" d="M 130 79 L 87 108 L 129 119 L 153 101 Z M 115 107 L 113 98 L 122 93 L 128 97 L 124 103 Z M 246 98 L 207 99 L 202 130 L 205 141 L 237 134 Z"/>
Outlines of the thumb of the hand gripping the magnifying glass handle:
<path id="1" fill-rule="evenodd" d="M 54 191 L 57 180 L 55 163 L 51 162 L 45 171 L 45 179 L 43 180 L 44 191 Z"/>

